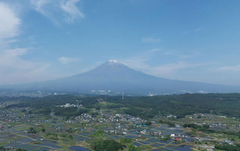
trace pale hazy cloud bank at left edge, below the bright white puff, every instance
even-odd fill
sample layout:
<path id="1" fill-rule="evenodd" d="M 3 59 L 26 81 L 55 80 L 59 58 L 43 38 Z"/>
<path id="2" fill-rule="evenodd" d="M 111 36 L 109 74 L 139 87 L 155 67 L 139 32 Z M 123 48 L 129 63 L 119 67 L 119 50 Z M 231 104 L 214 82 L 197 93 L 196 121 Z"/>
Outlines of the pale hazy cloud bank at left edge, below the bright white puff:
<path id="1" fill-rule="evenodd" d="M 16 84 L 54 79 L 48 72 L 49 64 L 27 61 L 22 56 L 30 49 L 8 49 L 0 53 L 0 84 Z"/>

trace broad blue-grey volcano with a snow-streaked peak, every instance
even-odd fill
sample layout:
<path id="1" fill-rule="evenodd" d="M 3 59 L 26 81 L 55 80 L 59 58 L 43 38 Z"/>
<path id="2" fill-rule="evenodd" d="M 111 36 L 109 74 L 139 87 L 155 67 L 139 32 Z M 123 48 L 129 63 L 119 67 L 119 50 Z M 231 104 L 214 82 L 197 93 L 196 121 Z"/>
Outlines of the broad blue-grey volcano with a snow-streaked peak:
<path id="1" fill-rule="evenodd" d="M 116 60 L 109 60 L 88 72 L 57 80 L 2 86 L 15 90 L 41 90 L 90 93 L 110 90 L 127 94 L 147 95 L 178 93 L 234 93 L 239 86 L 215 85 L 199 82 L 169 80 L 135 71 Z"/>

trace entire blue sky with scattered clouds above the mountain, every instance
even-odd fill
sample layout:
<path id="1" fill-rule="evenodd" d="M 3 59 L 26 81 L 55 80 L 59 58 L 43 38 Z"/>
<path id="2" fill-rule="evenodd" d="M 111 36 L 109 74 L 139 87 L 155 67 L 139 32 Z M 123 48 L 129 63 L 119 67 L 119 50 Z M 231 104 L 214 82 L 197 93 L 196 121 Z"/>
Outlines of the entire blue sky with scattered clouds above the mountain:
<path id="1" fill-rule="evenodd" d="M 115 59 L 147 74 L 240 85 L 239 0 L 0 0 L 0 84 Z"/>

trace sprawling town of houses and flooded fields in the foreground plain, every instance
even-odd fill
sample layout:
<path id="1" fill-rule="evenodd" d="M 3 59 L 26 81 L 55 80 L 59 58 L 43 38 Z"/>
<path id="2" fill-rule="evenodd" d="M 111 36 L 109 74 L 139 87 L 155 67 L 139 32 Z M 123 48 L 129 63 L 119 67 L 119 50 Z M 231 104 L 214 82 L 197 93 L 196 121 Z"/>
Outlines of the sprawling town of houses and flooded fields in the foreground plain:
<path id="1" fill-rule="evenodd" d="M 81 101 L 52 107 L 49 115 L 31 107 L 13 107 L 21 101 L 1 102 L 0 146 L 6 150 L 94 150 L 99 139 L 114 140 L 129 150 L 215 150 L 218 144 L 234 146 L 239 142 L 240 124 L 236 117 L 195 113 L 177 119 L 176 115 L 156 115 L 143 119 L 115 109 L 104 109 L 107 102 L 97 99 L 89 108 L 72 118 L 57 114 L 57 108 L 76 112 L 86 107 Z M 108 104 L 109 105 L 109 104 Z M 12 106 L 12 107 L 10 107 Z M 123 107 L 124 108 L 124 107 Z M 231 130 L 232 133 L 226 132 Z"/>

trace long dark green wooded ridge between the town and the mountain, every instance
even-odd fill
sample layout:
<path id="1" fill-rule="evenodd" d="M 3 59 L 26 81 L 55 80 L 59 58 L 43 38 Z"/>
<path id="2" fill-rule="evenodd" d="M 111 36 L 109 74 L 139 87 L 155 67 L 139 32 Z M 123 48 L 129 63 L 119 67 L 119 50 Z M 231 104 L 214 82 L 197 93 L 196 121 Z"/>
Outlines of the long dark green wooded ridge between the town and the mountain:
<path id="1" fill-rule="evenodd" d="M 6 100 L 6 98 L 1 98 Z M 47 96 L 43 98 L 20 97 L 18 104 L 12 104 L 6 108 L 12 107 L 31 107 L 35 112 L 49 114 L 51 108 L 65 103 L 76 104 L 76 100 L 81 100 L 85 107 L 79 113 L 69 114 L 68 117 L 89 112 L 89 109 L 114 109 L 119 113 L 127 113 L 139 116 L 145 119 L 152 118 L 155 115 L 176 115 L 177 118 L 194 113 L 213 113 L 218 115 L 227 115 L 240 117 L 240 94 L 182 94 L 165 95 L 153 97 L 125 97 L 122 100 L 120 96 L 95 96 L 79 98 L 72 95 Z M 13 100 L 13 98 L 12 98 Z M 106 102 L 99 103 L 99 100 Z M 68 109 L 70 111 L 70 109 Z M 56 108 L 61 115 L 61 109 Z M 70 113 L 69 111 L 66 111 Z M 72 109 L 72 112 L 75 112 Z M 62 112 L 63 113 L 63 112 Z M 65 116 L 65 115 L 64 115 Z"/>

